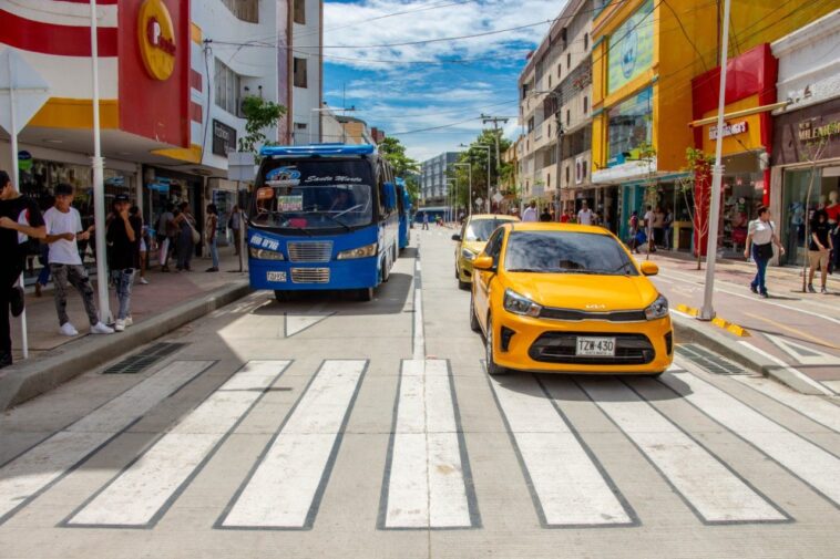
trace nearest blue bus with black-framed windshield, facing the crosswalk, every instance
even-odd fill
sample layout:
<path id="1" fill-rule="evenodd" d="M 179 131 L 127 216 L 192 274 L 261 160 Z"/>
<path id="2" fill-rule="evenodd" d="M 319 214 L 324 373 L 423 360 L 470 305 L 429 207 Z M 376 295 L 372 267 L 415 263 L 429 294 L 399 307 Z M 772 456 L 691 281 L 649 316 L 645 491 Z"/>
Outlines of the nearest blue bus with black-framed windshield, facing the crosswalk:
<path id="1" fill-rule="evenodd" d="M 248 219 L 252 287 L 278 301 L 301 290 L 371 300 L 399 251 L 388 162 L 371 145 L 267 146 L 260 155 Z"/>

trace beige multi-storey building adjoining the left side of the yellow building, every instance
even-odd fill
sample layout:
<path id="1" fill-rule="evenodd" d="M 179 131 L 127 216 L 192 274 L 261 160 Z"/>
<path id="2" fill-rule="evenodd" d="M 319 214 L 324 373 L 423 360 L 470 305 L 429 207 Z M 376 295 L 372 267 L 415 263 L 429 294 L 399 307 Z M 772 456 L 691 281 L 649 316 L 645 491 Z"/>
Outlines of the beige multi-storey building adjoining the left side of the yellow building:
<path id="1" fill-rule="evenodd" d="M 568 208 L 578 197 L 595 201 L 590 189 L 592 10 L 591 0 L 566 3 L 520 74 L 525 135 L 519 180 L 526 201 Z"/>

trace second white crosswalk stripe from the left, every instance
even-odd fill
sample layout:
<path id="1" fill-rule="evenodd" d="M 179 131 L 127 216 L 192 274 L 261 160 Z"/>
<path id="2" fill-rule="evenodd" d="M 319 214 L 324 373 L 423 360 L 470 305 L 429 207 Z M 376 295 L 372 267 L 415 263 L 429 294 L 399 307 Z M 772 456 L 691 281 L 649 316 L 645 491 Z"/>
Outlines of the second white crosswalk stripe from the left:
<path id="1" fill-rule="evenodd" d="M 70 519 L 72 527 L 148 527 L 165 514 L 201 469 L 288 368 L 289 361 L 250 361 L 160 438 Z"/>

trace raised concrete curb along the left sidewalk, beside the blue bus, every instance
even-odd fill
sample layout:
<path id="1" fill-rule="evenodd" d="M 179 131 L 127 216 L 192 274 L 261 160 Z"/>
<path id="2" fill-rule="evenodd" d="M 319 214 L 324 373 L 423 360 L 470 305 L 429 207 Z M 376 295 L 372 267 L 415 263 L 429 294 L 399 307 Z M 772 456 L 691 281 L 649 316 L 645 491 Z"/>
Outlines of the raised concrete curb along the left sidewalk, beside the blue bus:
<path id="1" fill-rule="evenodd" d="M 4 375 L 0 377 L 0 412 L 49 392 L 250 292 L 247 281 L 237 281 L 156 314 L 123 333 L 86 337 L 80 340 L 82 343 L 57 350 L 59 353 L 48 354 L 32 364 L 12 365 L 3 370 Z"/>

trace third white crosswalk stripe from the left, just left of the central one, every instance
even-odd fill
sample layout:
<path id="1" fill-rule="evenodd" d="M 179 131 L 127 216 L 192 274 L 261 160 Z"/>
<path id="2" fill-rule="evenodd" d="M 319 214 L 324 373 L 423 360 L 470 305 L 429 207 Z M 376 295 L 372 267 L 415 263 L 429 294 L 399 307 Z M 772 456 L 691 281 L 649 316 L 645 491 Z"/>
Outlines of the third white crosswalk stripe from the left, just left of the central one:
<path id="1" fill-rule="evenodd" d="M 311 528 L 366 369 L 363 360 L 324 362 L 217 527 Z"/>

